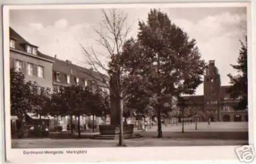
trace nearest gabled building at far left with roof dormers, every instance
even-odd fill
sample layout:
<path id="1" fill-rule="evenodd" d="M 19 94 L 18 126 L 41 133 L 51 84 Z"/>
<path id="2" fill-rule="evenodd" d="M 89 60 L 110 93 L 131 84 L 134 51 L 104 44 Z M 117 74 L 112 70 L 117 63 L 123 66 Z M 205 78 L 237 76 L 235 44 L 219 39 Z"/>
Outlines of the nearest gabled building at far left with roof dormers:
<path id="1" fill-rule="evenodd" d="M 38 51 L 38 46 L 26 41 L 12 28 L 10 30 L 10 67 L 21 71 L 26 81 L 35 81 L 39 87 L 52 88 L 54 61 Z"/>

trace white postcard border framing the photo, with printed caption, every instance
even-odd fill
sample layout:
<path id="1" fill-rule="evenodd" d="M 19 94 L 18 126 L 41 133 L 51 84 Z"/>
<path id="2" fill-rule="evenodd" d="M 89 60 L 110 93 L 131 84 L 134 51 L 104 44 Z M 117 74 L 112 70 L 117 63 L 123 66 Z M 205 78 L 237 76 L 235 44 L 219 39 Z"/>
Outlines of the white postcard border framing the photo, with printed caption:
<path id="1" fill-rule="evenodd" d="M 80 155 L 24 155 L 24 151 L 56 150 L 66 151 L 68 149 L 11 149 L 10 133 L 10 69 L 9 69 L 9 10 L 18 9 L 81 9 L 81 8 L 129 8 L 129 7 L 247 7 L 248 22 L 248 53 L 252 54 L 251 38 L 251 11 L 250 3 L 181 3 L 181 4 L 119 4 L 119 5 L 26 5 L 26 6 L 5 6 L 4 17 L 4 89 L 5 89 L 5 128 L 6 128 L 6 157 L 11 162 L 84 162 L 84 161 L 166 161 L 166 160 L 205 160 L 205 161 L 237 161 L 234 149 L 236 146 L 204 146 L 204 147 L 141 147 L 141 148 L 70 148 L 72 150 L 86 149 L 87 154 Z M 253 56 L 248 56 L 248 114 L 249 114 L 249 143 L 254 143 L 255 130 L 253 126 L 253 90 L 252 80 L 254 80 L 254 60 Z M 100 156 L 99 156 L 100 154 Z M 184 155 L 185 154 L 185 155 Z M 50 161 L 49 161 L 50 160 Z"/>

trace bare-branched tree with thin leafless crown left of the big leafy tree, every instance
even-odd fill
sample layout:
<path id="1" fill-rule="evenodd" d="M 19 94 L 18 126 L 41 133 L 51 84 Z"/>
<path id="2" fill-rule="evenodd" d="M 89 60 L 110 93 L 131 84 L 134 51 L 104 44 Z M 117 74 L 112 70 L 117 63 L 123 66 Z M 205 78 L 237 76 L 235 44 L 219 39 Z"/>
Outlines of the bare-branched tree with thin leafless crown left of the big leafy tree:
<path id="1" fill-rule="evenodd" d="M 109 60 L 108 66 L 105 66 L 102 61 L 99 60 L 99 55 L 102 52 L 97 52 L 94 49 L 88 51 L 81 45 L 84 54 L 89 58 L 90 64 L 93 65 L 95 71 L 98 72 L 100 77 L 95 79 L 104 82 L 110 88 L 110 102 L 112 110 L 111 124 L 119 126 L 119 146 L 124 146 L 123 143 L 123 107 L 124 101 L 127 98 L 127 91 L 131 85 L 131 82 L 136 81 L 134 78 L 135 72 L 139 67 L 143 66 L 143 61 L 137 64 L 134 68 L 135 72 L 125 72 L 123 69 L 123 62 L 121 55 L 123 51 L 123 44 L 129 40 L 129 32 L 131 27 L 126 26 L 127 14 L 121 10 L 112 9 L 110 12 L 103 10 L 103 19 L 101 28 L 96 30 L 99 36 L 97 40 L 98 45 L 101 46 L 105 53 L 104 56 Z M 135 44 L 134 46 L 136 46 Z M 133 49 L 137 51 L 138 49 Z M 108 76 L 103 76 L 100 73 L 100 69 L 103 69 Z M 130 79 L 127 81 L 127 79 Z M 116 115 L 114 114 L 116 113 Z"/>

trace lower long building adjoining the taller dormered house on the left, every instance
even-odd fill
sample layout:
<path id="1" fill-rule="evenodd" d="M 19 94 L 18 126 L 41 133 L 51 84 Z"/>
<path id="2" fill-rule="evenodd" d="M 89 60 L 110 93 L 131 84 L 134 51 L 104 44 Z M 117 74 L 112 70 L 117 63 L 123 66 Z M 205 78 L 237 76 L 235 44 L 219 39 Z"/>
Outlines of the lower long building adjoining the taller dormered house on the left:
<path id="1" fill-rule="evenodd" d="M 92 69 L 75 65 L 69 60 L 59 60 L 56 55 L 52 60 L 54 60 L 52 85 L 55 91 L 59 90 L 59 87 L 61 86 L 81 85 L 84 87 L 88 86 L 93 91 L 101 89 L 107 93 L 109 92 L 108 87 L 102 83 L 102 77 Z M 59 117 L 57 122 L 65 131 L 70 129 L 71 119 L 74 124 L 77 123 L 78 118 L 75 118 L 75 116 Z M 92 116 L 80 116 L 80 125 L 84 128 L 84 126 L 88 126 L 87 123 L 91 120 L 93 120 Z M 102 122 L 100 118 L 94 118 L 94 120 L 96 123 Z"/>

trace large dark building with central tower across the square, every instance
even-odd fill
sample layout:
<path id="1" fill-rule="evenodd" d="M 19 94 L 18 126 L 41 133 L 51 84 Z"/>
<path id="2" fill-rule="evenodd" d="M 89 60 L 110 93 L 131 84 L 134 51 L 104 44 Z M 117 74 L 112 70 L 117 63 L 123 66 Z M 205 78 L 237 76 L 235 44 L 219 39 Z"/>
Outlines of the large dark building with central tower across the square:
<path id="1" fill-rule="evenodd" d="M 202 111 L 202 120 L 247 122 L 247 110 L 234 110 L 240 99 L 232 99 L 227 93 L 230 86 L 221 86 L 221 78 L 215 60 L 210 60 L 204 76 L 204 95 L 184 96 L 186 110 Z M 193 110 L 191 110 L 193 109 Z"/>

